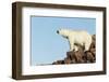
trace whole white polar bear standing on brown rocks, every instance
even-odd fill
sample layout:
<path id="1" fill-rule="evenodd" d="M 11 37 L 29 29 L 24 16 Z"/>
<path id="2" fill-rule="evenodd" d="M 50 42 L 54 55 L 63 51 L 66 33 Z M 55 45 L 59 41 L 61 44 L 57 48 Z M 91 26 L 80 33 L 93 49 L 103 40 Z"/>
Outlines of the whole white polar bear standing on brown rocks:
<path id="1" fill-rule="evenodd" d="M 85 46 L 85 51 L 89 50 L 92 43 L 92 36 L 85 30 L 71 30 L 71 29 L 60 29 L 57 33 L 61 35 L 63 38 L 69 40 L 70 51 L 77 51 L 78 46 L 75 44 L 81 44 Z"/>

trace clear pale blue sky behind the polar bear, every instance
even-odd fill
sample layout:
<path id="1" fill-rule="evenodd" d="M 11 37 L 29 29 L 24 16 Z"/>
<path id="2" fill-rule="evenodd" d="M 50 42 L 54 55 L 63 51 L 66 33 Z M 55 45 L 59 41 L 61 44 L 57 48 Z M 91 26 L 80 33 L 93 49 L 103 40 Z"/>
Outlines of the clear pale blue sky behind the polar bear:
<path id="1" fill-rule="evenodd" d="M 60 28 L 96 33 L 95 18 L 32 16 L 31 20 L 32 65 L 51 64 L 65 57 L 70 47 L 69 42 L 57 33 Z"/>

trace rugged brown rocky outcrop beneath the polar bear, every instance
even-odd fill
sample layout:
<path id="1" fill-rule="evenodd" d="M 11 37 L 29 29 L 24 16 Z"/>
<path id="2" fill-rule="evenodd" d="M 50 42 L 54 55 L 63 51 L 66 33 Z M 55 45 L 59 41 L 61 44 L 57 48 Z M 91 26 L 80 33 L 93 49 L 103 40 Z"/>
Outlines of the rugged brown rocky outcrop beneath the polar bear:
<path id="1" fill-rule="evenodd" d="M 66 52 L 66 57 L 62 60 L 56 60 L 52 65 L 62 64 L 87 64 L 96 62 L 96 36 L 92 36 L 92 44 L 88 51 L 84 51 L 84 46 L 78 45 L 78 51 Z"/>

